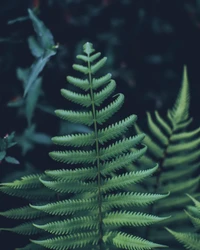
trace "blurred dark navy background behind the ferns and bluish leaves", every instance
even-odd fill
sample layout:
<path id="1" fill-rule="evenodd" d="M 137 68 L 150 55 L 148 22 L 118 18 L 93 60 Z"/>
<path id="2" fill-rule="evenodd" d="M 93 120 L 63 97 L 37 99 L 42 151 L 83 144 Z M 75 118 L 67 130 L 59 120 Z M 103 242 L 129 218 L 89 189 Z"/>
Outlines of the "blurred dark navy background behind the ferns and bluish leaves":
<path id="1" fill-rule="evenodd" d="M 60 97 L 59 90 L 66 87 L 66 75 L 74 74 L 71 65 L 75 56 L 81 52 L 82 45 L 90 41 L 96 51 L 108 57 L 105 72 L 113 74 L 117 92 L 125 94 L 126 101 L 121 114 L 116 116 L 121 118 L 134 113 L 143 122 L 147 110 L 157 109 L 165 113 L 174 103 L 181 86 L 183 65 L 187 65 L 191 92 L 190 114 L 194 117 L 193 126 L 199 126 L 200 1 L 1 0 L 0 137 L 12 131 L 20 135 L 27 128 L 25 117 L 20 115 L 17 108 L 8 107 L 7 103 L 23 96 L 16 69 L 30 67 L 34 61 L 27 44 L 27 38 L 34 35 L 32 23 L 26 18 L 28 8 L 37 10 L 38 17 L 59 44 L 57 54 L 50 59 L 41 74 L 42 101 L 47 108 L 73 108 L 71 103 L 66 103 Z M 19 17 L 25 17 L 25 20 L 8 24 Z M 34 123 L 37 124 L 37 131 L 45 132 L 49 137 L 71 129 L 64 125 L 67 127 L 62 130 L 59 119 L 37 109 Z M 74 130 L 84 129 L 77 127 Z M 55 168 L 55 163 L 48 157 L 51 149 L 54 149 L 53 145 L 44 146 L 40 143 L 34 144 L 25 154 L 22 154 L 22 147 L 11 148 L 9 153 L 20 164 L 13 166 L 1 163 L 1 181 L 12 180 L 20 174 Z M 28 170 L 27 164 L 31 164 Z M 12 197 L 5 198 L 3 195 L 1 201 L 1 210 L 13 204 Z M 14 203 L 17 206 L 18 201 L 14 200 Z M 7 244 L 6 250 L 13 249 L 13 244 L 19 245 L 17 240 Z"/>

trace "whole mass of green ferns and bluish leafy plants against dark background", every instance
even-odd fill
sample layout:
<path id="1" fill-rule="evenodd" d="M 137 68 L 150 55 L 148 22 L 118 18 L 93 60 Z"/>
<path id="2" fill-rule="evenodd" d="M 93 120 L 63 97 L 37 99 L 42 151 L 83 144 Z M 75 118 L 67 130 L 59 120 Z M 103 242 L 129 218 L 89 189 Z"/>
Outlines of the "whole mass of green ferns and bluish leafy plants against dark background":
<path id="1" fill-rule="evenodd" d="M 100 59 L 91 43 L 81 41 L 81 63 L 73 65 L 76 75 L 67 77 L 63 101 L 55 93 L 51 104 L 41 72 L 60 45 L 36 13 L 28 11 L 36 34 L 27 39 L 32 63 L 17 68 L 20 95 L 7 104 L 24 129 L 0 138 L 1 166 L 23 165 L 2 175 L 1 235 L 25 235 L 9 236 L 21 250 L 197 250 L 200 129 L 190 117 L 186 67 L 173 107 L 164 115 L 148 112 L 146 121 L 136 124 L 131 107 L 129 116 L 123 115 L 124 95 L 115 94 L 109 58 Z M 57 123 L 51 134 L 58 135 L 51 140 L 48 116 L 54 117 L 61 105 L 55 113 L 66 121 Z M 41 121 L 47 122 L 46 131 L 40 131 Z M 40 155 L 41 167 L 34 166 L 34 149 L 45 158 L 55 147 L 65 148 L 49 154 L 57 163 L 49 159 L 42 165 Z"/>

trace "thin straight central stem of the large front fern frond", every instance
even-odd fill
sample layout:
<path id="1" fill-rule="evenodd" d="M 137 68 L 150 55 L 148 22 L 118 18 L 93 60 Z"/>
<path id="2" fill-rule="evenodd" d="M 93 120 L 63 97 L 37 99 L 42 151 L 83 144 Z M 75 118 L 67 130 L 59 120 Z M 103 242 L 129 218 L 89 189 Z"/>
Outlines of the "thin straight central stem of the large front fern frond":
<path id="1" fill-rule="evenodd" d="M 97 170 L 98 170 L 98 212 L 99 212 L 99 233 L 100 233 L 100 242 L 99 242 L 99 249 L 102 248 L 102 238 L 103 238 L 103 231 L 102 231 L 102 196 L 101 196 L 101 172 L 100 172 L 100 158 L 99 158 L 99 138 L 98 138 L 98 129 L 97 129 L 97 120 L 96 120 L 96 109 L 95 109 L 95 103 L 94 103 L 94 92 L 92 88 L 92 75 L 91 75 L 91 66 L 90 66 L 90 60 L 88 55 L 88 69 L 89 69 L 89 84 L 90 84 L 90 97 L 91 97 L 91 103 L 92 103 L 92 114 L 93 114 L 93 121 L 94 121 L 94 134 L 95 134 L 95 145 L 96 145 L 96 163 L 97 163 Z"/>

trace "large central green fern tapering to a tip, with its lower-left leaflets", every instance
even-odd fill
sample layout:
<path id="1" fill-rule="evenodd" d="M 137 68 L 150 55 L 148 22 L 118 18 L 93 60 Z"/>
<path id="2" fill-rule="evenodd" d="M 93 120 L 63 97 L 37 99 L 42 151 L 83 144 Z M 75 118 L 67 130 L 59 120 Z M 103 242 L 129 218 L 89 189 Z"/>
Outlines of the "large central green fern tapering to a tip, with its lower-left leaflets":
<path id="1" fill-rule="evenodd" d="M 43 205 L 31 202 L 29 206 L 2 212 L 1 215 L 9 218 L 37 218 L 2 230 L 28 235 L 41 234 L 45 239 L 31 240 L 32 244 L 57 250 L 162 247 L 131 233 L 131 227 L 148 226 L 166 219 L 140 212 L 137 207 L 152 204 L 168 194 L 126 191 L 127 187 L 152 175 L 158 166 L 126 171 L 128 164 L 146 152 L 145 146 L 136 147 L 141 144 L 144 134 L 122 139 L 122 135 L 133 126 L 135 115 L 107 124 L 109 118 L 121 108 L 124 95 L 117 94 L 113 99 L 110 98 L 116 87 L 111 74 L 94 77 L 107 58 L 99 59 L 100 53 L 94 53 L 90 43 L 86 43 L 83 48 L 85 54 L 77 58 L 84 65 L 74 64 L 73 68 L 86 77 L 68 76 L 67 80 L 85 93 L 62 89 L 61 94 L 88 111 L 56 110 L 56 115 L 70 122 L 91 126 L 92 130 L 84 134 L 53 137 L 55 144 L 81 148 L 50 153 L 54 160 L 67 164 L 65 169 L 47 170 L 42 175 L 2 184 L 2 192 L 29 200 L 59 197 L 59 201 Z M 111 99 L 111 102 L 105 105 L 106 99 Z M 136 151 L 130 152 L 133 146 Z"/>

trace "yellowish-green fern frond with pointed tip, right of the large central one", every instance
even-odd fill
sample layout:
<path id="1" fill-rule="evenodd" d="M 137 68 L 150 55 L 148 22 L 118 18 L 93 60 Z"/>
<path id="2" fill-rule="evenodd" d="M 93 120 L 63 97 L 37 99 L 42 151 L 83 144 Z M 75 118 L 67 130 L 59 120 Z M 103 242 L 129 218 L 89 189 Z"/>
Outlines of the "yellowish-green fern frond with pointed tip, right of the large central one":
<path id="1" fill-rule="evenodd" d="M 161 117 L 157 111 L 153 115 L 147 113 L 147 131 L 135 126 L 137 133 L 146 134 L 143 142 L 148 146 L 148 150 L 147 155 L 135 162 L 132 168 L 142 170 L 143 166 L 152 166 L 154 161 L 159 163 L 156 176 L 148 179 L 145 190 L 170 192 L 170 197 L 153 204 L 150 211 L 158 212 L 159 216 L 173 215 L 159 223 L 159 225 L 167 224 L 172 229 L 187 225 L 185 224 L 186 214 L 180 212 L 180 209 L 189 202 L 184 193 L 188 192 L 199 197 L 195 192 L 199 186 L 200 128 L 188 130 L 192 122 L 192 118 L 189 117 L 189 101 L 189 84 L 186 68 L 184 68 L 179 94 L 166 117 Z M 137 185 L 137 187 L 138 191 L 144 189 L 144 185 Z M 129 191 L 132 190 L 129 189 Z M 165 238 L 162 230 L 156 230 L 155 227 L 147 230 L 147 234 L 150 235 L 150 239 L 154 239 L 156 235 L 160 242 Z M 171 241 L 173 242 L 173 239 Z"/>

